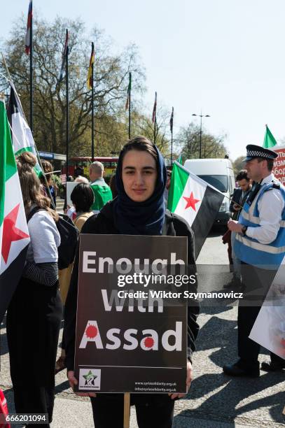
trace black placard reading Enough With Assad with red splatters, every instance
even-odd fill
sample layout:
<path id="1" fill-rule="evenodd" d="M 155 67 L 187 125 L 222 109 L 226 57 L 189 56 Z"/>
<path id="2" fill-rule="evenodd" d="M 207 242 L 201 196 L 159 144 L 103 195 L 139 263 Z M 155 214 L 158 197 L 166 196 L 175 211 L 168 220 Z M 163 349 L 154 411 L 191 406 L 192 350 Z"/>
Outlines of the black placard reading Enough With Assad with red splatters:
<path id="1" fill-rule="evenodd" d="M 81 235 L 80 392 L 186 392 L 187 238 Z"/>

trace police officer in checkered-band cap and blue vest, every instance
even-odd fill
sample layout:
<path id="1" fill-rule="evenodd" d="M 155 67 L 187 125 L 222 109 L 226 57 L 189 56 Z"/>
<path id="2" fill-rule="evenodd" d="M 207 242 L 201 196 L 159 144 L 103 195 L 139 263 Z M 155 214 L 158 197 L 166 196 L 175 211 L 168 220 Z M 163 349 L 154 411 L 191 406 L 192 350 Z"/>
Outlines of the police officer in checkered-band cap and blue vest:
<path id="1" fill-rule="evenodd" d="M 260 306 L 285 255 L 285 187 L 272 174 L 272 150 L 258 145 L 246 146 L 245 168 L 254 181 L 238 222 L 230 220 L 228 228 L 236 232 L 234 250 L 242 261 L 244 299 L 239 300 L 238 355 L 235 364 L 223 367 L 229 376 L 258 377 L 260 345 L 251 341 L 249 334 Z M 271 361 L 263 362 L 261 369 L 285 369 L 285 360 L 272 352 Z"/>

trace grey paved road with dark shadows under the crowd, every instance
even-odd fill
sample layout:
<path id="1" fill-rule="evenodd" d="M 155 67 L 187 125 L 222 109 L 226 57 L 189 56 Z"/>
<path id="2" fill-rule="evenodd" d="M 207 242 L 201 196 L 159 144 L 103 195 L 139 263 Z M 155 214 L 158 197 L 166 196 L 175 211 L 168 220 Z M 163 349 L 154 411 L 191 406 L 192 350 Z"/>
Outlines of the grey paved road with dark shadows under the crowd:
<path id="1" fill-rule="evenodd" d="M 200 265 L 213 264 L 208 268 L 212 272 L 211 289 L 220 290 L 230 280 L 228 266 L 221 266 L 227 263 L 221 231 L 216 230 L 207 238 L 197 262 Z M 195 378 L 186 399 L 176 402 L 175 428 L 284 427 L 285 373 L 263 372 L 258 379 L 232 379 L 221 371 L 223 364 L 236 359 L 236 319 L 236 306 L 202 305 L 199 317 L 201 329 L 193 361 Z M 0 387 L 6 392 L 9 409 L 13 412 L 5 324 L 1 329 L 0 354 Z M 263 350 L 260 361 L 267 358 L 268 352 Z M 92 427 L 89 400 L 76 397 L 71 392 L 65 373 L 57 374 L 56 381 L 55 413 L 51 427 Z M 133 409 L 131 427 L 137 427 Z"/>

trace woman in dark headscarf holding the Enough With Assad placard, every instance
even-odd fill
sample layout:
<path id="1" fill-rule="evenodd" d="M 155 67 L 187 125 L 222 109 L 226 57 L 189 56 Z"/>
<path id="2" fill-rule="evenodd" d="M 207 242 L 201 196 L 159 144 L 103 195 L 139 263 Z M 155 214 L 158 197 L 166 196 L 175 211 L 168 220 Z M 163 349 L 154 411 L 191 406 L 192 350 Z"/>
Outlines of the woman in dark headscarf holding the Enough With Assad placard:
<path id="1" fill-rule="evenodd" d="M 165 164 L 156 146 L 143 136 L 125 144 L 120 152 L 116 171 L 118 197 L 102 208 L 97 217 L 85 222 L 83 234 L 167 235 L 188 237 L 188 264 L 195 272 L 193 231 L 177 215 L 165 208 L 164 192 L 167 181 Z M 65 311 L 67 370 L 71 387 L 74 378 L 74 348 L 76 301 L 78 287 L 78 254 L 74 263 Z M 194 291 L 194 290 L 193 290 Z M 192 380 L 192 353 L 198 332 L 197 304 L 188 308 L 188 362 L 186 385 Z M 86 395 L 86 394 L 85 394 Z M 90 395 L 95 426 L 123 427 L 123 394 Z M 171 427 L 174 399 L 185 394 L 131 394 L 136 406 L 139 427 Z"/>

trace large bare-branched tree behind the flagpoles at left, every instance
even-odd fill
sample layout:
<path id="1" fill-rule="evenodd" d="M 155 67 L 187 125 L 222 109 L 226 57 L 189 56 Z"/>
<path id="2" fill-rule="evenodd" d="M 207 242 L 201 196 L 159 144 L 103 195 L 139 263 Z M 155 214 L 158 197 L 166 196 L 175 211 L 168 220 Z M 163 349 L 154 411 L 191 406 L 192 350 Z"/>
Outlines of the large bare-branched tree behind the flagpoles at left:
<path id="1" fill-rule="evenodd" d="M 95 155 L 109 155 L 123 138 L 124 120 L 120 110 L 125 103 L 127 76 L 132 71 L 137 93 L 143 89 L 144 69 L 138 65 L 135 45 L 118 55 L 111 54 L 111 41 L 94 29 L 88 38 L 80 20 L 57 17 L 48 23 L 34 17 L 34 138 L 41 150 L 65 153 L 66 90 L 58 82 L 65 29 L 69 29 L 69 150 L 71 155 L 90 155 L 91 92 L 86 86 L 90 41 L 95 42 Z M 14 25 L 4 44 L 8 69 L 29 113 L 29 58 L 23 40 L 24 20 Z M 3 66 L 1 72 L 6 73 Z M 3 85 L 2 85 L 3 87 Z M 135 91 L 133 91 L 135 93 Z M 123 141 L 125 141 L 125 137 Z"/>

